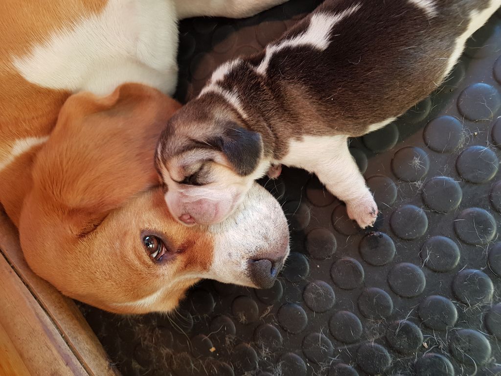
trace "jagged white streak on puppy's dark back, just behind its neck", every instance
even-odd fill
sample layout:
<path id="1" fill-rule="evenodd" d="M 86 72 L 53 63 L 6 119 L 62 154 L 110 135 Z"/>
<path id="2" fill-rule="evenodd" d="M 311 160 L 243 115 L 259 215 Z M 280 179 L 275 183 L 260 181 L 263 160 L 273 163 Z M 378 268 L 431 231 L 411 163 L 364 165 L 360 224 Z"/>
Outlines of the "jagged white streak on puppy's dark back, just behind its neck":
<path id="1" fill-rule="evenodd" d="M 324 51 L 331 42 L 331 30 L 344 18 L 357 12 L 362 7 L 357 4 L 339 14 L 316 13 L 312 16 L 308 29 L 300 35 L 281 41 L 277 45 L 270 45 L 266 48 L 266 55 L 256 71 L 265 75 L 273 55 L 284 48 L 294 48 L 300 46 L 311 46 Z"/>

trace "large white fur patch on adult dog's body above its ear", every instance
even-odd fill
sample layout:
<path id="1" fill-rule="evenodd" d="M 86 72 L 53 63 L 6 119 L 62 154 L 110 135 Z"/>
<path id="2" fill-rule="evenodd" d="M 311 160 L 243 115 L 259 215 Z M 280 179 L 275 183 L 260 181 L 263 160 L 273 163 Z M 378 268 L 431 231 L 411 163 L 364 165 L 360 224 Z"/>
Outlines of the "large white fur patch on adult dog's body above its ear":
<path id="1" fill-rule="evenodd" d="M 167 0 L 109 0 L 98 15 L 56 31 L 31 54 L 14 59 L 28 81 L 98 95 L 126 82 L 171 94 L 177 77 L 176 12 Z"/>

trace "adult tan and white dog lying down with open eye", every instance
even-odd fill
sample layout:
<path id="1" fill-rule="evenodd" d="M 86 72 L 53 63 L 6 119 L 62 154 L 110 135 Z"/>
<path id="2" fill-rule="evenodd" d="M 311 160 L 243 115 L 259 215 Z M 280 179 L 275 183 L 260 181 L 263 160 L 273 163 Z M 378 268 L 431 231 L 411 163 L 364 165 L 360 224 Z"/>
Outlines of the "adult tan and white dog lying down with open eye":
<path id="1" fill-rule="evenodd" d="M 273 284 L 289 252 L 277 201 L 256 184 L 227 221 L 187 229 L 153 156 L 180 107 L 165 95 L 178 19 L 284 1 L 0 3 L 0 204 L 38 275 L 119 313 L 170 311 L 201 278 Z"/>

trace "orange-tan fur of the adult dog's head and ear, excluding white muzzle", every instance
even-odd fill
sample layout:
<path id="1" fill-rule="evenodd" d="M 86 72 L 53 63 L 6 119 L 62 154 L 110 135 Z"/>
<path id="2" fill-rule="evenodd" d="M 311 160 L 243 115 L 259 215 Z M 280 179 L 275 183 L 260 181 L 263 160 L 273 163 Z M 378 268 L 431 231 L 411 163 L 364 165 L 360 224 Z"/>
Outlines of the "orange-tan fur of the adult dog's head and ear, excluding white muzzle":
<path id="1" fill-rule="evenodd" d="M 141 313 L 151 307 L 117 304 L 169 286 L 155 307 L 168 311 L 193 283 L 176 279 L 208 270 L 210 236 L 172 219 L 155 188 L 151 145 L 178 107 L 160 92 L 134 84 L 105 98 L 77 94 L 63 106 L 38 153 L 19 223 L 29 265 L 63 293 L 110 311 Z M 161 234 L 181 252 L 168 267 L 154 265 L 140 230 Z"/>

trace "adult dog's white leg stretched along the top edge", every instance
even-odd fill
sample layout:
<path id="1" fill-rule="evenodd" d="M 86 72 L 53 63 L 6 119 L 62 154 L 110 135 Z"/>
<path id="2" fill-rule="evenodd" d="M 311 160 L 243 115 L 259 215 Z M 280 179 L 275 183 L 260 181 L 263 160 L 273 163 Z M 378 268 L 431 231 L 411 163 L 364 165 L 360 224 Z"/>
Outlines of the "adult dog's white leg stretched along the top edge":
<path id="1" fill-rule="evenodd" d="M 244 18 L 289 0 L 174 0 L 179 19 L 198 16 Z"/>

